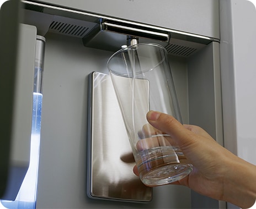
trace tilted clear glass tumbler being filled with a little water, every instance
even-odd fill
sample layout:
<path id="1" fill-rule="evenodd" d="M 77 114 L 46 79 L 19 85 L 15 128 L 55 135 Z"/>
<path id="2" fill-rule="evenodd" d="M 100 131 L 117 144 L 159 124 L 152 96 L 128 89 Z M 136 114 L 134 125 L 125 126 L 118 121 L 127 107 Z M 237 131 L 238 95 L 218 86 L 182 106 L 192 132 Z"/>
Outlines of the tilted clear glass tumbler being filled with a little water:
<path id="1" fill-rule="evenodd" d="M 193 166 L 175 141 L 146 119 L 152 109 L 182 123 L 165 48 L 132 45 L 114 53 L 107 65 L 142 182 L 157 186 L 184 178 Z"/>

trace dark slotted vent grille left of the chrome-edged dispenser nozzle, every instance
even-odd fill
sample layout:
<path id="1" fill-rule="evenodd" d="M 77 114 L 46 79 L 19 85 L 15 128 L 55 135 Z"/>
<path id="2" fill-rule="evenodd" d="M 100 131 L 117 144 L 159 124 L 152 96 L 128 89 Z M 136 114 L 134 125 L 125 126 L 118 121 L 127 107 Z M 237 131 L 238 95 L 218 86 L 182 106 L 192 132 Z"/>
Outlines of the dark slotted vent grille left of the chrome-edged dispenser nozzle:
<path id="1" fill-rule="evenodd" d="M 60 34 L 76 37 L 84 37 L 88 29 L 88 27 L 63 23 L 60 21 L 53 21 L 49 27 L 49 31 L 51 32 L 58 32 Z"/>

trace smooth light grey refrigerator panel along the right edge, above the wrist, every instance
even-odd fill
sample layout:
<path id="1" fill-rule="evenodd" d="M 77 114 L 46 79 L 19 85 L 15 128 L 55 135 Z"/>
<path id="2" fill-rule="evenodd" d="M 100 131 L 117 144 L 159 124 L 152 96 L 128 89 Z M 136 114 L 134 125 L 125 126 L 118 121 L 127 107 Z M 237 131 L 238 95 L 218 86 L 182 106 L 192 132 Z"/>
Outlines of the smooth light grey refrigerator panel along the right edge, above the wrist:
<path id="1" fill-rule="evenodd" d="M 256 164 L 256 9 L 246 0 L 220 1 L 220 8 L 224 144 Z"/>

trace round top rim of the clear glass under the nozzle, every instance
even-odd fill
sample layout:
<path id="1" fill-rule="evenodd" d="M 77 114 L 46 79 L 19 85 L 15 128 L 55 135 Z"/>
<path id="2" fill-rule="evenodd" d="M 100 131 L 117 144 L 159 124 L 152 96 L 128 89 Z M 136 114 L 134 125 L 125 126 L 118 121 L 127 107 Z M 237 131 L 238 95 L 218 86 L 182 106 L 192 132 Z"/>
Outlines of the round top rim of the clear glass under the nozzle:
<path id="1" fill-rule="evenodd" d="M 106 66 L 109 70 L 109 72 L 112 72 L 116 75 L 121 75 L 121 76 L 127 76 L 127 75 L 132 75 L 132 73 L 127 73 L 127 74 L 124 74 L 124 73 L 120 73 L 120 72 L 117 72 L 116 70 L 113 70 L 109 67 L 109 63 L 110 61 L 115 57 L 117 56 L 118 54 L 122 53 L 122 52 L 126 52 L 128 50 L 130 50 L 131 48 L 134 48 L 134 47 L 140 47 L 140 46 L 154 46 L 154 47 L 158 47 L 158 48 L 161 48 L 161 50 L 164 51 L 165 54 L 168 54 L 166 48 L 164 48 L 162 45 L 159 45 L 158 43 L 137 43 L 136 45 L 130 45 L 130 46 L 126 46 L 124 48 L 121 48 L 120 50 L 116 51 L 114 54 L 111 55 L 111 57 L 108 59 L 108 62 L 106 63 Z M 142 72 L 138 72 L 138 73 L 135 73 L 135 74 L 141 74 L 141 73 L 145 73 L 145 72 L 148 72 L 154 68 L 156 68 L 158 65 L 160 65 L 161 63 L 163 63 L 164 59 L 166 59 L 166 57 L 164 56 L 164 58 L 159 61 L 154 67 L 152 67 L 151 69 L 146 69 L 146 70 L 143 70 Z"/>

